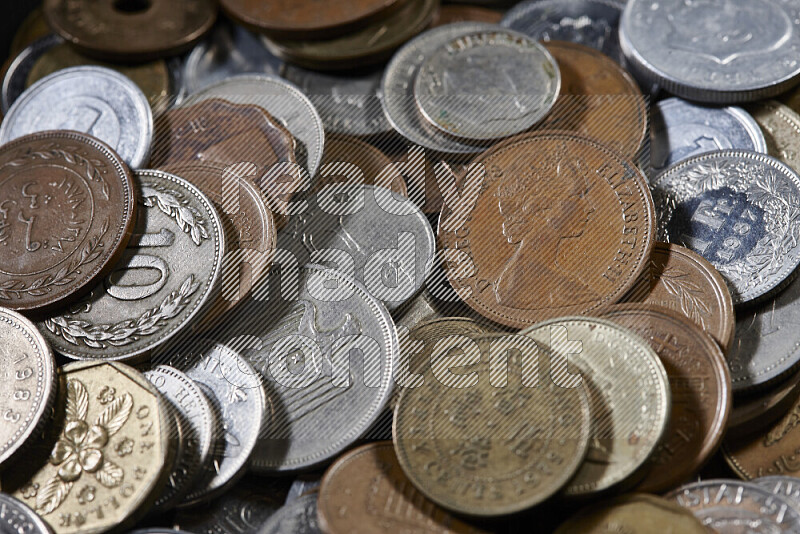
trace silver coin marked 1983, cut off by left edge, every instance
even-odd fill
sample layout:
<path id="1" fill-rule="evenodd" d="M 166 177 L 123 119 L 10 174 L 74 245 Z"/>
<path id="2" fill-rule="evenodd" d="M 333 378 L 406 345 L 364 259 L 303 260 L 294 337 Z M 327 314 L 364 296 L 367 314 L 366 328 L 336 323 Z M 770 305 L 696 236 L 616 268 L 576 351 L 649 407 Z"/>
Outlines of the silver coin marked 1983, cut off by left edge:
<path id="1" fill-rule="evenodd" d="M 47 423 L 56 395 L 50 347 L 28 319 L 0 308 L 0 464 Z"/>

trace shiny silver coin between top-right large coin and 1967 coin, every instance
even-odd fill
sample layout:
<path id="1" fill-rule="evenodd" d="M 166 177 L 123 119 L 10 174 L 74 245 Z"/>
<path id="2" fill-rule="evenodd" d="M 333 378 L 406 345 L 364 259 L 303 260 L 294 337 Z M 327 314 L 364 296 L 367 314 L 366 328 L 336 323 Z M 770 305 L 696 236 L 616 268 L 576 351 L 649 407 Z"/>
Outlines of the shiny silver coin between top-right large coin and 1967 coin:
<path id="1" fill-rule="evenodd" d="M 755 119 L 742 108 L 706 107 L 667 98 L 651 109 L 650 165 L 659 173 L 692 156 L 726 149 L 767 153 Z"/>

